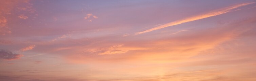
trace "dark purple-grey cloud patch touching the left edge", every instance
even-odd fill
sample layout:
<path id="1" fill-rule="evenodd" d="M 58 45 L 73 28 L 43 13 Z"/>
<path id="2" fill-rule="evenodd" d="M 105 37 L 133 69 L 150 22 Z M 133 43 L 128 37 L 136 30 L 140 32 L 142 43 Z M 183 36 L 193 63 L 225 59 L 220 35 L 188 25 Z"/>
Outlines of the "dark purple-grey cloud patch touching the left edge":
<path id="1" fill-rule="evenodd" d="M 11 51 L 7 50 L 0 50 L 0 59 L 5 59 L 5 60 L 14 60 L 14 59 L 19 59 L 22 54 L 14 54 Z"/>

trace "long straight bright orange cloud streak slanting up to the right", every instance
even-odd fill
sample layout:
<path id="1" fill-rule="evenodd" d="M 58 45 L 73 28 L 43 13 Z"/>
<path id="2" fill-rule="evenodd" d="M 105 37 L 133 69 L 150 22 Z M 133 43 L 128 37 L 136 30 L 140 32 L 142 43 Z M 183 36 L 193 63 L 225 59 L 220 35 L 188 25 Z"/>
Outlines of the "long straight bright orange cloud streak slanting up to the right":
<path id="1" fill-rule="evenodd" d="M 186 18 L 186 19 L 183 19 L 183 20 L 177 20 L 177 21 L 166 23 L 164 25 L 160 25 L 160 26 L 157 26 L 157 27 L 154 27 L 154 28 L 142 31 L 142 32 L 137 32 L 137 33 L 135 33 L 135 35 L 151 32 L 151 31 L 162 29 L 162 28 L 169 27 L 169 26 L 179 25 L 179 24 L 186 23 L 186 22 L 191 22 L 191 21 L 196 21 L 196 20 L 200 20 L 200 19 L 204 19 L 204 18 L 218 16 L 218 15 L 221 15 L 221 14 L 225 14 L 227 12 L 231 12 L 235 8 L 245 6 L 245 5 L 249 5 L 249 4 L 253 4 L 253 3 L 255 3 L 255 2 L 238 4 L 238 5 L 226 7 L 226 8 L 223 8 L 223 9 L 211 11 L 211 12 L 206 13 L 206 14 L 202 14 L 202 15 L 198 15 L 198 16 L 194 16 L 194 17 L 189 17 L 189 18 Z"/>

